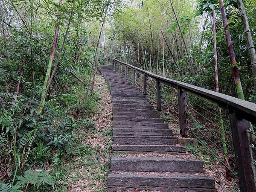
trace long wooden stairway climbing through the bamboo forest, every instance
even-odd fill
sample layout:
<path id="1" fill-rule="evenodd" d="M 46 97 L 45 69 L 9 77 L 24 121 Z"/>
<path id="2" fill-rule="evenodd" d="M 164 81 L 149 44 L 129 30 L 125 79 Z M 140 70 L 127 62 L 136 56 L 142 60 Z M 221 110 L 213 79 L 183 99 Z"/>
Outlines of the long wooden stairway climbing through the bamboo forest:
<path id="1" fill-rule="evenodd" d="M 213 192 L 214 179 L 204 175 L 202 161 L 186 155 L 145 95 L 112 66 L 100 72 L 111 85 L 113 113 L 108 191 Z M 152 155 L 137 156 L 144 153 Z"/>

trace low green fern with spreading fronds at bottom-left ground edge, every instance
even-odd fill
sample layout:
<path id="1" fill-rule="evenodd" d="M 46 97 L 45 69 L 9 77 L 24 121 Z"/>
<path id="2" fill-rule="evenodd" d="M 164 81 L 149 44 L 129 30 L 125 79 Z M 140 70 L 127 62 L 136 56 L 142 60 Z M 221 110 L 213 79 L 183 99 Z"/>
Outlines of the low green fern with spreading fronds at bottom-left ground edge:
<path id="1" fill-rule="evenodd" d="M 36 186 L 37 189 L 39 186 L 42 185 L 54 185 L 54 179 L 49 175 L 48 172 L 44 172 L 42 170 L 31 171 L 30 169 L 28 169 L 24 173 L 23 177 L 18 176 L 17 179 L 17 185 L 28 186 L 29 184 L 31 184 L 34 185 L 34 187 Z"/>

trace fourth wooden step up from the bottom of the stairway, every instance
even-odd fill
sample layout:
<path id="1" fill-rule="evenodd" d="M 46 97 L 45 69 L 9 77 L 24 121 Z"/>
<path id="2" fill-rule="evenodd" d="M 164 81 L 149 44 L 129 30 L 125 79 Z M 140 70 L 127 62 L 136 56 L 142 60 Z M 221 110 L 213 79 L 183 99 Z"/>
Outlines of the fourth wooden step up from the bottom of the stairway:
<path id="1" fill-rule="evenodd" d="M 177 137 L 166 136 L 118 136 L 113 137 L 116 145 L 175 145 L 178 144 Z"/>

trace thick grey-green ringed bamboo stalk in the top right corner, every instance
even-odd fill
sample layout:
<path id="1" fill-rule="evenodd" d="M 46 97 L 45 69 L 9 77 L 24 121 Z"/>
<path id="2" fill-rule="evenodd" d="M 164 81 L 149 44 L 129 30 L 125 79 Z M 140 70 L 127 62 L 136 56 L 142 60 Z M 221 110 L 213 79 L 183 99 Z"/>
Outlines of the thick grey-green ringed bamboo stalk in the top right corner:
<path id="1" fill-rule="evenodd" d="M 245 33 L 245 37 L 246 37 L 246 41 L 247 41 L 247 49 L 249 51 L 250 62 L 252 65 L 252 70 L 253 70 L 253 83 L 254 83 L 254 87 L 256 88 L 256 54 L 255 54 L 255 49 L 254 49 L 254 44 L 253 44 L 253 38 L 252 38 L 252 35 L 250 32 L 250 26 L 248 23 L 247 15 L 244 10 L 243 2 L 242 2 L 242 0 L 236 0 L 236 2 L 238 5 L 242 23 L 244 26 L 244 33 Z"/>

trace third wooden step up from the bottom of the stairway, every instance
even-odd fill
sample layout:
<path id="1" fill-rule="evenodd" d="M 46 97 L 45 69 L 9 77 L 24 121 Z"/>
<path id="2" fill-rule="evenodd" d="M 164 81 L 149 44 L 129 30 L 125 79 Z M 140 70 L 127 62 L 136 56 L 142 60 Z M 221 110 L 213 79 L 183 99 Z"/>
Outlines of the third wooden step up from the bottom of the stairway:
<path id="1" fill-rule="evenodd" d="M 186 153 L 186 149 L 180 145 L 112 145 L 113 151 L 122 152 L 155 152 L 168 154 Z"/>

